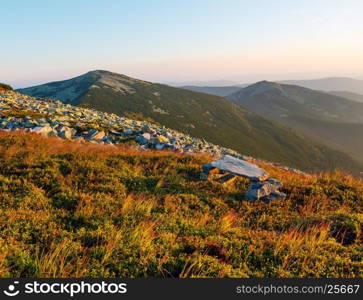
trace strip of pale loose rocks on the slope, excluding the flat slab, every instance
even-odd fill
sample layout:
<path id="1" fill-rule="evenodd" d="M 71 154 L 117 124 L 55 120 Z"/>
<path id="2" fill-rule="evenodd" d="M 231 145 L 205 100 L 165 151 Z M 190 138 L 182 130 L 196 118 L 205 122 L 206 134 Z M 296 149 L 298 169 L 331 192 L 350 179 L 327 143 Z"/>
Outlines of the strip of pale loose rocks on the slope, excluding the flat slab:
<path id="1" fill-rule="evenodd" d="M 140 149 L 182 153 L 225 154 L 237 152 L 147 121 L 99 112 L 54 99 L 35 98 L 14 91 L 0 91 L 0 129 L 25 130 L 43 136 L 118 145 L 134 142 Z"/>

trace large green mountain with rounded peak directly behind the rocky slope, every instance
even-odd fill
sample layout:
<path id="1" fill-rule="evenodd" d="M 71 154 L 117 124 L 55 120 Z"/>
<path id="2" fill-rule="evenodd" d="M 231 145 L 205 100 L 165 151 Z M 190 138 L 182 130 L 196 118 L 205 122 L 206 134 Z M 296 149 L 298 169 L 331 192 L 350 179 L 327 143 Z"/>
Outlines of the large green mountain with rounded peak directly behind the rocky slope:
<path id="1" fill-rule="evenodd" d="M 243 154 L 303 170 L 362 169 L 348 155 L 302 137 L 225 98 L 108 71 L 92 71 L 19 92 L 118 115 L 152 118 L 169 128 Z"/>

